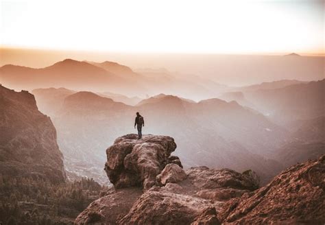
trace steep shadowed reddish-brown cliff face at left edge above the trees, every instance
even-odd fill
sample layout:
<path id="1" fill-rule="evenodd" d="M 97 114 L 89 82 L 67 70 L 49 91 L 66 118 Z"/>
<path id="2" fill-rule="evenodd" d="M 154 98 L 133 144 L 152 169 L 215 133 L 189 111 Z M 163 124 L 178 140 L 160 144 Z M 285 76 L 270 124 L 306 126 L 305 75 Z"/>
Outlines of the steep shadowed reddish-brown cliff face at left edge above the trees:
<path id="1" fill-rule="evenodd" d="M 56 129 L 33 95 L 0 86 L 0 134 L 0 174 L 64 182 Z"/>

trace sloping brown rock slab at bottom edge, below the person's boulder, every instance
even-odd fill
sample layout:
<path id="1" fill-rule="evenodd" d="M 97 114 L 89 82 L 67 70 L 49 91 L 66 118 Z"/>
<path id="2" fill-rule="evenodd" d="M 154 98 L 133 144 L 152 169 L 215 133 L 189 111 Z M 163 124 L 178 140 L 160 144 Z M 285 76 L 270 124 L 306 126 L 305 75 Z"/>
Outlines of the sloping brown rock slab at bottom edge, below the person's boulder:
<path id="1" fill-rule="evenodd" d="M 211 207 L 208 200 L 153 187 L 134 203 L 119 224 L 191 224 Z"/>

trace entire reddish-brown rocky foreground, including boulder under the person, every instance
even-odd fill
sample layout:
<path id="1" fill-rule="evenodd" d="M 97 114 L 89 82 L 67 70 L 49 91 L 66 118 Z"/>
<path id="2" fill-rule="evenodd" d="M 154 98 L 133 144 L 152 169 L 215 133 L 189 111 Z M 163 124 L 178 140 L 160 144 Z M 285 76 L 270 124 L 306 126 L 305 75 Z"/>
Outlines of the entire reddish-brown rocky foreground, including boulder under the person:
<path id="1" fill-rule="evenodd" d="M 184 171 L 171 137 L 119 137 L 106 150 L 114 185 L 75 224 L 324 224 L 325 156 L 258 189 L 254 171 Z"/>

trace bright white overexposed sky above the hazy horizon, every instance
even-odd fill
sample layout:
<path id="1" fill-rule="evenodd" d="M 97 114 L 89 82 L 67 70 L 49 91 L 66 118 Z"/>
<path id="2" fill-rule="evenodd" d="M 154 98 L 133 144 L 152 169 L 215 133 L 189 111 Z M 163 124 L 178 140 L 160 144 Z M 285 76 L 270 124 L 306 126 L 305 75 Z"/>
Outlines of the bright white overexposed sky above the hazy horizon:
<path id="1" fill-rule="evenodd" d="M 3 1 L 1 47 L 324 54 L 324 1 Z"/>

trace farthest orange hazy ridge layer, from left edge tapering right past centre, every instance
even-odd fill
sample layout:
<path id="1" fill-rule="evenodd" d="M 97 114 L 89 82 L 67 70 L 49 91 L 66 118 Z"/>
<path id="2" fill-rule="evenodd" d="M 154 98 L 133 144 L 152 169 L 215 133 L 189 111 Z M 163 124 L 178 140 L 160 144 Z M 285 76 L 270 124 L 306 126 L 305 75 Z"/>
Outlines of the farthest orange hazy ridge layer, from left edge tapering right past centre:
<path id="1" fill-rule="evenodd" d="M 66 59 L 40 69 L 6 64 L 0 67 L 0 82 L 14 89 L 65 87 L 123 95 L 156 95 L 157 91 L 191 95 L 197 99 L 212 97 L 226 86 L 193 75 L 169 71 L 139 71 L 116 62 L 86 62 Z M 195 93 L 193 93 L 195 90 Z"/>

